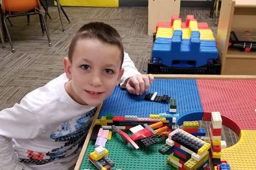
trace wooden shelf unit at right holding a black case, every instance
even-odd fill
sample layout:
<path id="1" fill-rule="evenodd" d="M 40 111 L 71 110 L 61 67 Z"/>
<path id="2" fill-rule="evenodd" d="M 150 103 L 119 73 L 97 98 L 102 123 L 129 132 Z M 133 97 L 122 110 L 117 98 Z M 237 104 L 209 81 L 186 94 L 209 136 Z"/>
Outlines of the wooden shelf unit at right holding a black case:
<path id="1" fill-rule="evenodd" d="M 225 0 L 221 2 L 217 47 L 223 75 L 256 75 L 256 52 L 228 48 L 231 31 L 256 32 L 256 1 Z"/>

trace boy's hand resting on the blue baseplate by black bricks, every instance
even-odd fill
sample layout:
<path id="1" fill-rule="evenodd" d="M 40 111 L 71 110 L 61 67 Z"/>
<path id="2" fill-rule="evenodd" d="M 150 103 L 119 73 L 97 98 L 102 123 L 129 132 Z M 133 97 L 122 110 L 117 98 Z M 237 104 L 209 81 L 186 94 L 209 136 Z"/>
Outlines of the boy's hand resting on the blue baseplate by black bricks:
<path id="1" fill-rule="evenodd" d="M 154 82 L 154 76 L 149 75 L 135 75 L 129 78 L 126 84 L 126 89 L 129 93 L 141 95 L 149 90 L 150 84 Z"/>

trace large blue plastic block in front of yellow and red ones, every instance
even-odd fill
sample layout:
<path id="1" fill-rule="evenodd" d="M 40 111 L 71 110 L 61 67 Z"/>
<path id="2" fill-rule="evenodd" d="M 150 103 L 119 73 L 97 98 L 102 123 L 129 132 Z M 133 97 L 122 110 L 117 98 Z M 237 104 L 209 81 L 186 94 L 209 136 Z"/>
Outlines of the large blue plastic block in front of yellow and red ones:
<path id="1" fill-rule="evenodd" d="M 152 48 L 153 63 L 176 68 L 204 66 L 218 55 L 216 42 L 200 40 L 199 31 L 192 31 L 190 39 L 182 39 L 182 31 L 175 30 L 172 38 L 156 38 Z"/>

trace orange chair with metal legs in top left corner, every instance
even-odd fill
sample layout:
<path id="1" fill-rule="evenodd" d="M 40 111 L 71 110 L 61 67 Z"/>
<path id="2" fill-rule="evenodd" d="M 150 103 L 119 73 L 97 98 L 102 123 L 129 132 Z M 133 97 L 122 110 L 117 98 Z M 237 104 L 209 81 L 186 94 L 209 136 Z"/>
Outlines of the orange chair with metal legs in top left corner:
<path id="1" fill-rule="evenodd" d="M 49 46 L 51 46 L 51 40 L 49 32 L 46 26 L 45 19 L 43 18 L 42 13 L 40 12 L 40 3 L 39 0 L 2 0 L 2 22 L 4 25 L 4 32 L 7 33 L 10 46 L 12 47 L 12 52 L 15 52 L 12 39 L 10 39 L 10 34 L 6 24 L 6 20 L 15 16 L 29 16 L 29 15 L 39 15 L 42 34 L 44 35 L 44 29 L 48 38 Z"/>

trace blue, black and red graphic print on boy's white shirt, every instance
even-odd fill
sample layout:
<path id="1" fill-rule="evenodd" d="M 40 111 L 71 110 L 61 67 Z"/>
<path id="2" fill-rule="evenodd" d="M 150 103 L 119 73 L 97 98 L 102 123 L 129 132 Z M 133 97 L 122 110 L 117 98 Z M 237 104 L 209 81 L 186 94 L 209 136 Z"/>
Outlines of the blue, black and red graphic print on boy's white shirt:
<path id="1" fill-rule="evenodd" d="M 35 151 L 28 150 L 28 159 L 20 158 L 20 162 L 33 163 L 36 165 L 43 165 L 45 163 L 52 162 L 56 159 L 67 157 L 71 154 L 77 154 L 83 146 L 86 135 L 91 126 L 93 116 L 97 110 L 97 107 L 92 109 L 86 114 L 73 118 L 67 122 L 64 122 L 57 128 L 57 131 L 50 135 L 50 138 L 55 142 L 64 142 L 64 144 L 56 149 L 53 149 L 47 153 L 37 153 Z M 31 152 L 33 154 L 31 155 Z M 35 156 L 34 156 L 35 154 Z M 36 154 L 44 155 L 44 158 L 36 156 Z"/>

